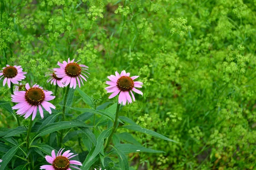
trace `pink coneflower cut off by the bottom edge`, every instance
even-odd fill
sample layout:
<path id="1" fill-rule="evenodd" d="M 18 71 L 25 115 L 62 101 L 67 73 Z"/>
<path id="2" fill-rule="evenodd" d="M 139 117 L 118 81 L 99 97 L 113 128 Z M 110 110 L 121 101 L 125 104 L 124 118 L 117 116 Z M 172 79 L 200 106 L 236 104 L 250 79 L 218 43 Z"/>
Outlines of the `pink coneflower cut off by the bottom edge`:
<path id="1" fill-rule="evenodd" d="M 45 156 L 45 159 L 47 162 L 49 162 L 52 165 L 43 165 L 40 167 L 41 170 L 71 170 L 70 167 L 73 167 L 75 169 L 81 170 L 78 167 L 71 166 L 70 164 L 76 164 L 82 166 L 81 162 L 70 160 L 76 155 L 73 155 L 74 153 L 70 153 L 70 150 L 67 150 L 62 155 L 62 151 L 64 149 L 60 149 L 57 153 L 57 156 L 55 155 L 55 150 L 52 150 L 52 156 Z M 72 156 L 73 155 L 73 156 Z"/>

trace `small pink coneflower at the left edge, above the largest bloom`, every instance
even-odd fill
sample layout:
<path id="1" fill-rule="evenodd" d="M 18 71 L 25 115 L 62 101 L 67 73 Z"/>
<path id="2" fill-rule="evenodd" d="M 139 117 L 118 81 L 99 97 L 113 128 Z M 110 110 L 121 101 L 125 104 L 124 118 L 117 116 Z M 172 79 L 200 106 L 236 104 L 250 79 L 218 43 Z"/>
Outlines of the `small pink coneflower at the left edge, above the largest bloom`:
<path id="1" fill-rule="evenodd" d="M 13 84 L 19 84 L 18 81 L 25 79 L 26 76 L 24 76 L 24 74 L 26 74 L 26 72 L 23 72 L 22 70 L 23 69 L 20 65 L 6 65 L 6 67 L 4 67 L 2 71 L 0 71 L 0 79 L 4 77 L 3 86 L 5 86 L 7 82 L 8 87 L 11 88 L 11 82 Z"/>

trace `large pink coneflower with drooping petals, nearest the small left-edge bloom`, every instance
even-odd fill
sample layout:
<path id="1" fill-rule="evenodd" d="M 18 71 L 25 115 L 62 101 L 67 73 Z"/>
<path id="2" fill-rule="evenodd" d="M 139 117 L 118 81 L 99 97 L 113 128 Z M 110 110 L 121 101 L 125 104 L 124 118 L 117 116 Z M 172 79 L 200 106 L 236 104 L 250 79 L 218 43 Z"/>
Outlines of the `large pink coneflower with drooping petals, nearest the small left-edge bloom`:
<path id="1" fill-rule="evenodd" d="M 52 113 L 51 108 L 55 109 L 55 106 L 47 102 L 55 98 L 55 96 L 51 96 L 51 91 L 43 90 L 43 88 L 39 87 L 37 84 L 30 88 L 29 83 L 26 83 L 25 88 L 26 91 L 15 91 L 14 94 L 11 95 L 12 102 L 18 103 L 12 107 L 12 109 L 18 109 L 16 112 L 17 115 L 24 115 L 25 119 L 27 119 L 33 113 L 32 120 L 34 120 L 37 109 L 39 109 L 43 119 L 44 114 L 41 105 L 50 114 Z"/>

